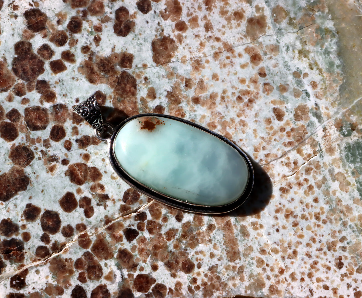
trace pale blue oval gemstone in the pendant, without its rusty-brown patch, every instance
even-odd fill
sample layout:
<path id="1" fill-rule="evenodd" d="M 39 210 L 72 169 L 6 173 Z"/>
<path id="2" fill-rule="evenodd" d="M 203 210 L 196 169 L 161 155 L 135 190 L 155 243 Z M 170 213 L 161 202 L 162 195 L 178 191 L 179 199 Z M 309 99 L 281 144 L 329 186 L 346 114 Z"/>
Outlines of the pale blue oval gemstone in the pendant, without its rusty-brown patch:
<path id="1" fill-rule="evenodd" d="M 162 124 L 141 129 L 150 119 Z M 115 138 L 114 153 L 135 180 L 198 205 L 221 206 L 237 200 L 249 179 L 247 163 L 233 147 L 196 127 L 164 117 L 127 122 Z"/>

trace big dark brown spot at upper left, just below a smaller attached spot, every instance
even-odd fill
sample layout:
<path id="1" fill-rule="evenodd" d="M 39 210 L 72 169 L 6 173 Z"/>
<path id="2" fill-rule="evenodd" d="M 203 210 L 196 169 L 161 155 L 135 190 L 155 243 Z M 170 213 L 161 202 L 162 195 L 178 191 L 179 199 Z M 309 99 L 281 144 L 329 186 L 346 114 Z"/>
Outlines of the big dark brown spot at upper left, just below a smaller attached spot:
<path id="1" fill-rule="evenodd" d="M 26 82 L 34 81 L 45 71 L 44 61 L 34 53 L 18 55 L 13 59 L 12 71 Z"/>

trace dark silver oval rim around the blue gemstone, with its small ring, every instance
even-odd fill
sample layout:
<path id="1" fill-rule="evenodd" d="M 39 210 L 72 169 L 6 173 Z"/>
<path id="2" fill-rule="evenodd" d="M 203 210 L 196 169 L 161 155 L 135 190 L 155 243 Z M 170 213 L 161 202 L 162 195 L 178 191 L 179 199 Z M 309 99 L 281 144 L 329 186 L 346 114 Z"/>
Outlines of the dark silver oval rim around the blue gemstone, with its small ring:
<path id="1" fill-rule="evenodd" d="M 146 185 L 143 185 L 139 181 L 135 180 L 133 177 L 131 177 L 122 168 L 122 166 L 118 163 L 117 158 L 115 158 L 115 155 L 114 155 L 114 140 L 117 137 L 117 134 L 118 134 L 119 130 L 121 130 L 121 128 L 127 122 L 131 121 L 132 119 L 140 118 L 140 117 L 163 117 L 163 118 L 168 118 L 168 119 L 173 119 L 173 120 L 176 120 L 176 121 L 180 121 L 180 122 L 183 122 L 185 124 L 191 125 L 191 126 L 197 128 L 197 129 L 200 129 L 200 130 L 202 130 L 202 131 L 204 131 L 206 133 L 209 133 L 209 134 L 213 135 L 214 137 L 219 138 L 223 142 L 227 143 L 231 147 L 233 147 L 244 158 L 245 162 L 248 165 L 249 179 L 248 179 L 248 183 L 247 183 L 247 186 L 245 187 L 245 190 L 244 190 L 243 194 L 241 194 L 241 196 L 239 198 L 237 198 L 235 201 L 233 201 L 232 203 L 229 203 L 227 205 L 221 205 L 221 206 L 197 205 L 197 204 L 194 204 L 194 203 L 188 203 L 188 202 L 180 201 L 177 198 L 173 198 L 173 197 L 167 196 L 165 194 L 162 194 L 160 192 L 157 192 L 156 190 L 148 188 Z M 114 171 L 117 173 L 117 175 L 119 177 L 121 177 L 121 179 L 123 181 L 125 181 L 127 184 L 132 186 L 132 188 L 136 189 L 140 193 L 143 193 L 147 197 L 152 198 L 153 200 L 159 201 L 159 202 L 161 202 L 161 203 L 163 203 L 165 205 L 172 206 L 172 207 L 177 208 L 177 209 L 191 211 L 191 212 L 195 212 L 195 213 L 220 214 L 220 213 L 226 213 L 226 212 L 232 211 L 232 210 L 236 209 L 237 207 L 239 207 L 241 204 L 243 204 L 245 202 L 245 200 L 248 198 L 249 194 L 251 193 L 251 190 L 252 190 L 253 184 L 254 184 L 254 171 L 253 171 L 253 167 L 252 167 L 252 164 L 251 164 L 248 156 L 244 153 L 243 150 L 241 150 L 239 147 L 237 147 L 230 140 L 223 137 L 222 135 L 214 133 L 213 131 L 211 131 L 209 129 L 206 129 L 203 126 L 200 126 L 198 124 L 195 124 L 195 123 L 193 123 L 191 121 L 188 121 L 188 120 L 185 120 L 185 119 L 182 119 L 182 118 L 169 116 L 169 115 L 164 115 L 164 114 L 154 114 L 154 113 L 138 114 L 136 116 L 129 117 L 125 121 L 123 121 L 121 124 L 119 124 L 118 126 L 111 126 L 107 122 L 105 122 L 104 125 L 108 126 L 109 128 L 111 128 L 113 130 L 113 134 L 112 134 L 112 136 L 110 138 L 101 138 L 96 130 L 95 130 L 95 133 L 96 133 L 96 135 L 97 135 L 97 137 L 99 139 L 108 142 L 109 159 L 110 159 L 110 163 L 111 163 Z"/>

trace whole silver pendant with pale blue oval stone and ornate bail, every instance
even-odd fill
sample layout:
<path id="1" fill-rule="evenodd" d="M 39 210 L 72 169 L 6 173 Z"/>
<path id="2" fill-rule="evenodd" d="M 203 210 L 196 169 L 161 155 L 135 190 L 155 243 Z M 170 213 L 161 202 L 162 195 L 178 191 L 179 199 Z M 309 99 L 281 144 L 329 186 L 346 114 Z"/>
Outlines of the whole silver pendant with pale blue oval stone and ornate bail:
<path id="1" fill-rule="evenodd" d="M 182 118 L 139 114 L 117 126 L 103 122 L 96 97 L 73 107 L 108 143 L 110 163 L 121 179 L 166 205 L 218 214 L 249 196 L 254 172 L 248 156 L 227 138 Z"/>

